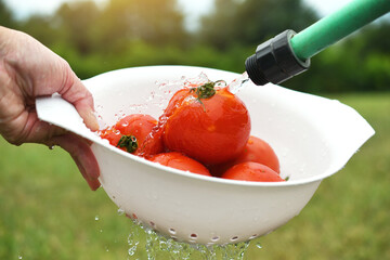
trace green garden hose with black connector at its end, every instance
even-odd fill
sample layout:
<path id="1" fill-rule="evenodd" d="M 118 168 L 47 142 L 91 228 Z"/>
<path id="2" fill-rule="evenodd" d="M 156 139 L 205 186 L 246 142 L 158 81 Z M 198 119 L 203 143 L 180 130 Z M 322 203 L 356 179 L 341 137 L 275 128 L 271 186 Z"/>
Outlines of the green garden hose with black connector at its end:
<path id="1" fill-rule="evenodd" d="M 245 67 L 256 84 L 281 83 L 310 66 L 310 57 L 390 11 L 390 0 L 354 0 L 299 34 L 286 30 L 260 44 Z"/>

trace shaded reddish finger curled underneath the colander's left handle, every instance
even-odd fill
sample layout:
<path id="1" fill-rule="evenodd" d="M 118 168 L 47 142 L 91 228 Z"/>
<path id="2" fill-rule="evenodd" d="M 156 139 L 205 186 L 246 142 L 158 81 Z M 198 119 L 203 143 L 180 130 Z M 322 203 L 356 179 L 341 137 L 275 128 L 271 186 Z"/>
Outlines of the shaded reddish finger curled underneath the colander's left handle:
<path id="1" fill-rule="evenodd" d="M 92 191 L 96 191 L 101 186 L 98 180 L 100 176 L 98 160 L 88 142 L 68 133 L 54 136 L 46 144 L 49 146 L 58 145 L 68 152 Z"/>

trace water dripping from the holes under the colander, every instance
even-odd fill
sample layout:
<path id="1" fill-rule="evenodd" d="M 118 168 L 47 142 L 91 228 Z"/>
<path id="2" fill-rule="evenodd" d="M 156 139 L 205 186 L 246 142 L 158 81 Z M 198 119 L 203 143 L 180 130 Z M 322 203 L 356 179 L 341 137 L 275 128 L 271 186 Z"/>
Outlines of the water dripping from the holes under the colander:
<path id="1" fill-rule="evenodd" d="M 173 238 L 157 234 L 154 230 L 143 226 L 133 220 L 128 236 L 129 260 L 140 259 L 141 250 L 145 249 L 148 260 L 243 260 L 249 242 L 229 245 L 205 246 L 177 242 Z"/>

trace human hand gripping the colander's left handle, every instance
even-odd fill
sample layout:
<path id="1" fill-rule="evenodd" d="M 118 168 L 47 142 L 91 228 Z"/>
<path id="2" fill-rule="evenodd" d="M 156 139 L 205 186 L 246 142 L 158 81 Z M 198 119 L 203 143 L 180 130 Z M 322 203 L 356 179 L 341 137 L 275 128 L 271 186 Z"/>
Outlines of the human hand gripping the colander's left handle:
<path id="1" fill-rule="evenodd" d="M 37 117 L 36 98 L 53 93 L 72 103 L 88 128 L 98 130 L 92 95 L 68 63 L 32 37 L 0 26 L 0 134 L 15 145 L 63 147 L 95 191 L 100 170 L 90 143 Z"/>

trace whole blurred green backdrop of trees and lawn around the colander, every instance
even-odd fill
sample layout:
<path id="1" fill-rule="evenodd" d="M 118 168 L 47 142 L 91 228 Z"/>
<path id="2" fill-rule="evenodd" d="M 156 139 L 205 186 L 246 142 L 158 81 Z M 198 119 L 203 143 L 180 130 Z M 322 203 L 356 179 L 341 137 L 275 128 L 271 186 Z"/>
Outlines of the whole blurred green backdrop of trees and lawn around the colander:
<path id="1" fill-rule="evenodd" d="M 84 79 L 112 69 L 180 64 L 244 72 L 256 46 L 318 18 L 300 0 L 216 0 L 197 30 L 174 0 L 63 4 L 16 20 L 0 0 L 0 25 L 26 31 Z M 251 243 L 246 259 L 390 259 L 390 22 L 381 20 L 320 53 L 284 86 L 354 107 L 376 130 L 302 212 Z M 133 224 L 88 185 L 60 148 L 0 138 L 0 259 L 127 259 Z M 256 245 L 262 246 L 259 249 Z M 130 259 L 146 259 L 139 250 Z"/>

